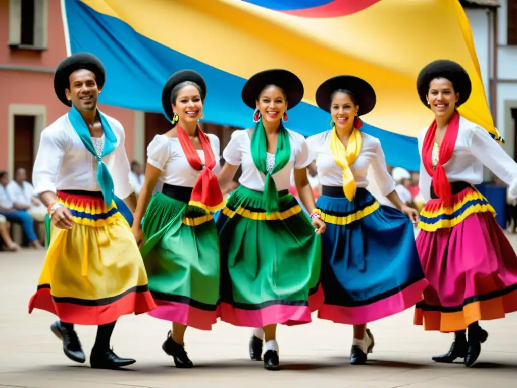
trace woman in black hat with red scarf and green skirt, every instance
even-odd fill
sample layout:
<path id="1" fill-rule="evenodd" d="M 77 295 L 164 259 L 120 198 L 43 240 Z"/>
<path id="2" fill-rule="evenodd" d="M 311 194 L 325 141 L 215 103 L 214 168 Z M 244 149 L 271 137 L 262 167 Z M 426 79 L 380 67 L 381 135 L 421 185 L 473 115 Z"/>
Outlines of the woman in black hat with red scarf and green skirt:
<path id="1" fill-rule="evenodd" d="M 195 71 L 178 71 L 165 83 L 162 106 L 173 128 L 147 147 L 132 227 L 158 306 L 149 315 L 172 322 L 162 349 L 178 368 L 193 366 L 184 347 L 187 326 L 211 330 L 218 314 L 219 238 L 211 212 L 223 199 L 212 173 L 219 139 L 198 124 L 205 97 L 205 81 Z M 158 180 L 162 190 L 151 199 Z"/>

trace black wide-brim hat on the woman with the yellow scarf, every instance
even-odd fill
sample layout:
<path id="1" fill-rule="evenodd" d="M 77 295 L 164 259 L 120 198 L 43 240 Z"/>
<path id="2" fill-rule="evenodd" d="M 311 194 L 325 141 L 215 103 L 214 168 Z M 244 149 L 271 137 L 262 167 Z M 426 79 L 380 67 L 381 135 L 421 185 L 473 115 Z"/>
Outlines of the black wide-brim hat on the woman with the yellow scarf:
<path id="1" fill-rule="evenodd" d="M 330 112 L 330 97 L 338 90 L 345 90 L 352 93 L 356 105 L 359 105 L 357 114 L 362 116 L 373 110 L 377 97 L 373 87 L 362 78 L 355 76 L 332 77 L 322 83 L 316 89 L 316 103 L 318 107 Z"/>

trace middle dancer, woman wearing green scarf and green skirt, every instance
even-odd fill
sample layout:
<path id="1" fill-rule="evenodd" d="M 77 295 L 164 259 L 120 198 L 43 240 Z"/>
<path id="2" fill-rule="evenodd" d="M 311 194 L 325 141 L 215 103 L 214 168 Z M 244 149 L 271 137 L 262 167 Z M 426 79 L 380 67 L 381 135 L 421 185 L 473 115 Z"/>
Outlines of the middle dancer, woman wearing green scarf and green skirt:
<path id="1" fill-rule="evenodd" d="M 277 324 L 311 321 L 321 303 L 320 233 L 325 224 L 311 220 L 288 193 L 295 171 L 299 197 L 314 208 L 307 180 L 312 155 L 303 136 L 284 127 L 287 109 L 303 97 L 295 74 L 273 69 L 255 74 L 242 89 L 242 99 L 255 109 L 254 128 L 234 132 L 223 152 L 218 175 L 225 186 L 242 166 L 240 187 L 217 220 L 221 246 L 221 320 L 256 327 L 250 357 L 278 369 Z"/>

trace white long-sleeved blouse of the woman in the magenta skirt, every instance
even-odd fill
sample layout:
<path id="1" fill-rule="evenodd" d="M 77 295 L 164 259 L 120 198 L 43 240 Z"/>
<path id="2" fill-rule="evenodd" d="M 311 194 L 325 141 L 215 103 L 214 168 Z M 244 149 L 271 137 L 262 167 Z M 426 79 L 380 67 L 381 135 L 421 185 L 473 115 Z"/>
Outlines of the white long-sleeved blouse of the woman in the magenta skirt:
<path id="1" fill-rule="evenodd" d="M 422 146 L 428 128 L 418 133 L 420 153 L 420 180 L 418 187 L 425 201 L 431 199 L 431 176 L 423 166 Z M 489 133 L 479 125 L 460 117 L 458 139 L 454 152 L 444 169 L 449 182 L 467 182 L 478 185 L 483 182 L 483 165 L 510 186 L 508 195 L 517 197 L 517 163 L 508 155 Z"/>

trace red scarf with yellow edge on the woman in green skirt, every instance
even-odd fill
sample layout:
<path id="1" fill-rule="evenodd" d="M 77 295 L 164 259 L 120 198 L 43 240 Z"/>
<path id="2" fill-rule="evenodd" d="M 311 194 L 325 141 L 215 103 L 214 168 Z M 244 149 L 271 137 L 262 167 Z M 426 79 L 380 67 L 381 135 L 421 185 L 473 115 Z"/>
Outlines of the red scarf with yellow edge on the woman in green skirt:
<path id="1" fill-rule="evenodd" d="M 212 169 L 216 167 L 216 158 L 210 146 L 210 140 L 208 140 L 208 136 L 198 126 L 197 136 L 205 153 L 205 164 L 203 165 L 203 161 L 192 145 L 185 129 L 176 125 L 176 133 L 189 165 L 194 170 L 201 171 L 192 189 L 189 205 L 201 207 L 208 212 L 215 212 L 223 206 L 223 195 L 219 182 L 214 173 L 212 173 Z"/>

